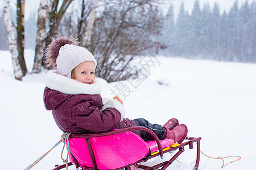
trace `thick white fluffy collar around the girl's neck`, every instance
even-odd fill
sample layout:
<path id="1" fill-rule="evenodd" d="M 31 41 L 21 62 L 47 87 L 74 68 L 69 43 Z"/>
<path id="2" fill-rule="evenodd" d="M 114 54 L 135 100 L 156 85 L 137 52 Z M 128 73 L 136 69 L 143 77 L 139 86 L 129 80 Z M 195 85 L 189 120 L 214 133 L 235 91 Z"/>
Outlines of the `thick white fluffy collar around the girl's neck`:
<path id="1" fill-rule="evenodd" d="M 101 84 L 97 78 L 93 84 L 85 84 L 77 80 L 57 74 L 57 70 L 49 70 L 46 74 L 46 86 L 68 95 L 96 95 L 101 92 Z"/>

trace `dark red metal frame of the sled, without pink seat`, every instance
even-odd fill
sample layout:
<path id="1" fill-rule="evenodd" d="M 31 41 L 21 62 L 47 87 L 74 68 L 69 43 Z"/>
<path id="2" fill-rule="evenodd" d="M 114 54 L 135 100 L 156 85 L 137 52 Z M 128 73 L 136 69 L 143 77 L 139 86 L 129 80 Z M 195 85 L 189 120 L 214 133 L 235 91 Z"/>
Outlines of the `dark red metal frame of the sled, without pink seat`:
<path id="1" fill-rule="evenodd" d="M 90 144 L 90 138 L 92 138 L 92 137 L 104 137 L 104 136 L 108 136 L 108 135 L 114 135 L 114 134 L 123 133 L 123 132 L 126 132 L 126 131 L 134 131 L 134 130 L 143 130 L 143 131 L 146 131 L 147 133 L 151 134 L 152 137 L 154 137 L 156 143 L 158 144 L 158 150 L 159 150 L 159 152 L 157 154 L 151 155 L 146 159 L 141 159 L 141 160 L 138 160 L 137 162 L 135 162 L 135 164 L 138 166 L 138 168 L 142 168 L 142 169 L 145 169 L 145 170 L 152 170 L 152 169 L 158 169 L 158 168 L 162 167 L 160 169 L 164 170 L 169 165 L 171 165 L 171 163 L 174 162 L 175 159 L 181 153 L 183 153 L 185 151 L 184 146 L 188 145 L 189 149 L 192 149 L 193 148 L 193 143 L 196 142 L 196 145 L 197 145 L 197 147 L 196 147 L 196 164 L 195 164 L 194 170 L 197 170 L 197 168 L 199 166 L 199 160 L 200 160 L 200 140 L 201 140 L 200 137 L 199 138 L 188 138 L 188 141 L 185 141 L 185 142 L 181 143 L 179 146 L 170 147 L 168 150 L 164 150 L 164 151 L 163 151 L 162 145 L 159 141 L 159 138 L 156 136 L 156 134 L 153 131 L 151 131 L 150 129 L 143 128 L 141 126 L 119 129 L 119 130 L 114 130 L 114 131 L 108 131 L 108 132 L 105 132 L 105 133 L 71 134 L 69 137 L 70 138 L 85 138 L 85 141 L 86 141 L 87 146 L 88 146 L 89 154 L 90 154 L 90 159 L 92 160 L 92 163 L 93 163 L 93 168 L 92 167 L 85 167 L 84 169 L 96 170 L 98 168 L 97 168 L 96 159 L 94 157 L 94 153 L 93 153 L 93 150 L 92 150 L 92 145 Z M 175 151 L 175 150 L 178 150 L 178 149 L 179 149 L 179 151 L 177 151 L 176 154 L 168 161 L 164 161 L 162 163 L 153 165 L 152 167 L 148 167 L 146 165 L 140 165 L 139 164 L 141 162 L 147 162 L 148 159 L 155 158 L 156 156 L 160 156 L 161 158 L 163 158 L 163 154 L 165 154 L 166 152 L 171 152 L 171 151 Z M 72 154 L 71 154 L 71 156 L 72 156 L 73 161 L 75 162 L 76 168 L 79 169 L 79 163 L 77 163 L 77 160 L 76 160 L 75 156 L 73 156 Z M 70 165 L 72 165 L 71 162 L 68 163 L 68 166 L 70 166 Z M 120 167 L 118 169 L 125 168 L 126 170 L 131 170 L 132 165 L 134 165 L 134 164 L 128 164 L 128 165 L 125 165 L 124 167 Z M 55 168 L 53 170 L 59 170 L 59 169 L 65 168 L 65 167 L 66 167 L 66 164 L 55 165 Z"/>

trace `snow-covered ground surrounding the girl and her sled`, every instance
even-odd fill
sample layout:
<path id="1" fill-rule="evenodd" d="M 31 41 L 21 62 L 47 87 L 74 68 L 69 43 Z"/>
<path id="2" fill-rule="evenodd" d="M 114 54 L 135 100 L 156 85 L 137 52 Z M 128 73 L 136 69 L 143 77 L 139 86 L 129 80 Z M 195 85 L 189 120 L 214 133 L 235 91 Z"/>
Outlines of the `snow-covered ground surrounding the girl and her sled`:
<path id="1" fill-rule="evenodd" d="M 31 70 L 33 54 L 29 50 L 25 54 Z M 25 169 L 60 140 L 61 131 L 51 112 L 44 108 L 46 73 L 28 74 L 19 82 L 14 79 L 10 53 L 0 51 L 0 56 L 0 169 Z M 150 73 L 147 78 L 115 83 L 102 80 L 102 96 L 113 97 L 113 92 L 125 94 L 117 91 L 123 85 L 127 118 L 144 117 L 163 125 L 176 117 L 188 126 L 189 136 L 202 138 L 201 151 L 205 154 L 241 156 L 223 169 L 256 169 L 256 65 L 157 59 L 154 65 L 145 67 Z M 31 169 L 53 169 L 55 164 L 63 164 L 62 147 L 63 143 Z M 199 169 L 221 168 L 221 159 L 200 156 Z M 164 155 L 170 157 L 168 153 Z M 193 169 L 195 159 L 196 150 L 185 147 L 178 158 L 182 163 L 174 162 L 168 169 Z M 154 160 L 159 161 L 160 158 Z"/>

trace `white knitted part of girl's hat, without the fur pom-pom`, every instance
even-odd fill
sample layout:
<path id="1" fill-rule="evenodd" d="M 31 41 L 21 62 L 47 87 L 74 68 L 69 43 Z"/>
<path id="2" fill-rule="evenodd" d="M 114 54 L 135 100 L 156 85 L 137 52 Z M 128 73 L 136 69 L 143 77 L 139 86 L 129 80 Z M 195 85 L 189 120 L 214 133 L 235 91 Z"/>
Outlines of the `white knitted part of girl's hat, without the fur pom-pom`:
<path id="1" fill-rule="evenodd" d="M 61 46 L 56 59 L 57 71 L 59 74 L 71 78 L 71 71 L 85 61 L 94 62 L 96 68 L 96 59 L 87 49 L 73 44 L 65 44 Z"/>

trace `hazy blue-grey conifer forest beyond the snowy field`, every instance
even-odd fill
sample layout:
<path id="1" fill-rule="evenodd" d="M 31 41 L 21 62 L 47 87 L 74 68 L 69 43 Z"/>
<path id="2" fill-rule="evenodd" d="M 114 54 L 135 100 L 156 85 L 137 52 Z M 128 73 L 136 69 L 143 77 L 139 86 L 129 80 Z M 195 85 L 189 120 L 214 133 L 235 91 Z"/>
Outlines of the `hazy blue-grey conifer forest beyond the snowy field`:
<path id="1" fill-rule="evenodd" d="M 171 5 L 164 24 L 159 39 L 168 46 L 166 56 L 256 62 L 255 2 L 239 8 L 236 1 L 228 13 L 220 14 L 217 3 L 212 10 L 207 3 L 201 9 L 196 0 L 191 14 L 182 4 L 176 20 Z"/>

